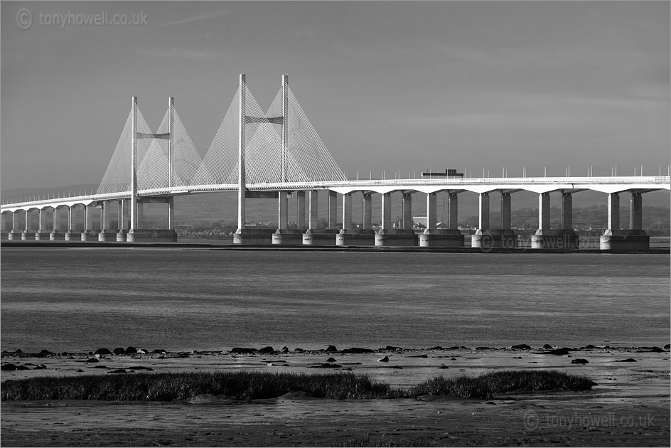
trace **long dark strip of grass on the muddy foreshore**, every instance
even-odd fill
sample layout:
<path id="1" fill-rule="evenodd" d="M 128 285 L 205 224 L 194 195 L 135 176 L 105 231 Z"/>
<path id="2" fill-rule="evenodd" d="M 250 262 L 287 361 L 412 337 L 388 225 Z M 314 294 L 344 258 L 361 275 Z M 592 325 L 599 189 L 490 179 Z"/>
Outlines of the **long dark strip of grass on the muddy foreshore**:
<path id="1" fill-rule="evenodd" d="M 336 400 L 417 398 L 422 395 L 488 400 L 496 393 L 513 390 L 589 390 L 594 384 L 584 376 L 556 370 L 508 370 L 478 377 L 439 376 L 409 389 L 392 388 L 367 375 L 353 373 L 134 373 L 9 380 L 2 383 L 1 399 L 175 401 L 212 394 L 237 400 L 257 400 L 301 390 L 314 397 Z"/>

